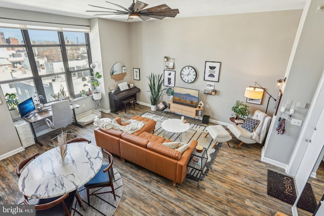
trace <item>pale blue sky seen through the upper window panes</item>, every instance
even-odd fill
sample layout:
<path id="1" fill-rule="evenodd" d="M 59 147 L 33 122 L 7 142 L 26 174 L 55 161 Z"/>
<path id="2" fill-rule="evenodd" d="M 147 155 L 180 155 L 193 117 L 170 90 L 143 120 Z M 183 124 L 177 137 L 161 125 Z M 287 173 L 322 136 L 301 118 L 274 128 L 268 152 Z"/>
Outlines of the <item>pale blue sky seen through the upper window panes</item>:
<path id="1" fill-rule="evenodd" d="M 5 38 L 8 37 L 15 37 L 18 39 L 18 41 L 22 41 L 23 37 L 21 34 L 20 29 L 15 28 L 0 28 L 0 32 L 4 32 Z M 44 31 L 44 30 L 28 30 L 30 40 L 35 41 L 56 41 L 55 44 L 59 44 L 59 38 L 57 31 Z M 79 44 L 85 44 L 86 38 L 84 32 L 71 32 L 71 31 L 65 31 L 63 32 L 64 39 L 68 37 L 69 41 L 72 41 L 74 44 L 77 44 L 77 37 Z"/>

